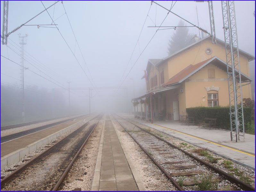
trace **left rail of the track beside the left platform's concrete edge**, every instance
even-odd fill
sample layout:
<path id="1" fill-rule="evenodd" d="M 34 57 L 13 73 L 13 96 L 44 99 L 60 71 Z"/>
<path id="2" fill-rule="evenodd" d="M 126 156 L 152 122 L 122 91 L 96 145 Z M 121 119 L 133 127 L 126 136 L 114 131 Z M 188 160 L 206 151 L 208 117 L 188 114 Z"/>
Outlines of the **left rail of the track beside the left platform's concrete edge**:
<path id="1" fill-rule="evenodd" d="M 98 116 L 92 118 L 91 120 L 97 118 Z M 90 121 L 91 121 L 90 120 Z M 83 124 L 81 127 L 86 126 L 90 121 L 88 121 L 87 123 Z M 78 129 L 74 130 L 73 132 L 79 130 L 81 127 L 79 127 Z M 71 132 L 70 134 L 72 134 L 73 132 Z M 4 179 L 1 180 L 1 188 L 11 179 L 13 179 L 13 177 L 24 171 L 24 169 L 26 169 L 27 167 L 29 167 L 32 163 L 34 163 L 35 161 L 37 161 L 39 158 L 43 157 L 44 155 L 47 154 L 48 151 L 50 151 L 51 149 L 53 149 L 58 143 L 60 143 L 61 141 L 65 140 L 70 134 L 66 135 L 64 138 L 62 138 L 61 140 L 59 140 L 58 142 L 56 142 L 53 146 L 51 146 L 50 148 L 46 149 L 44 152 L 40 153 L 38 156 L 32 158 L 30 161 L 28 161 L 26 164 L 22 165 L 21 167 L 19 167 L 18 169 L 16 169 L 14 172 L 12 172 L 11 174 L 7 175 L 6 177 L 4 177 Z"/>

